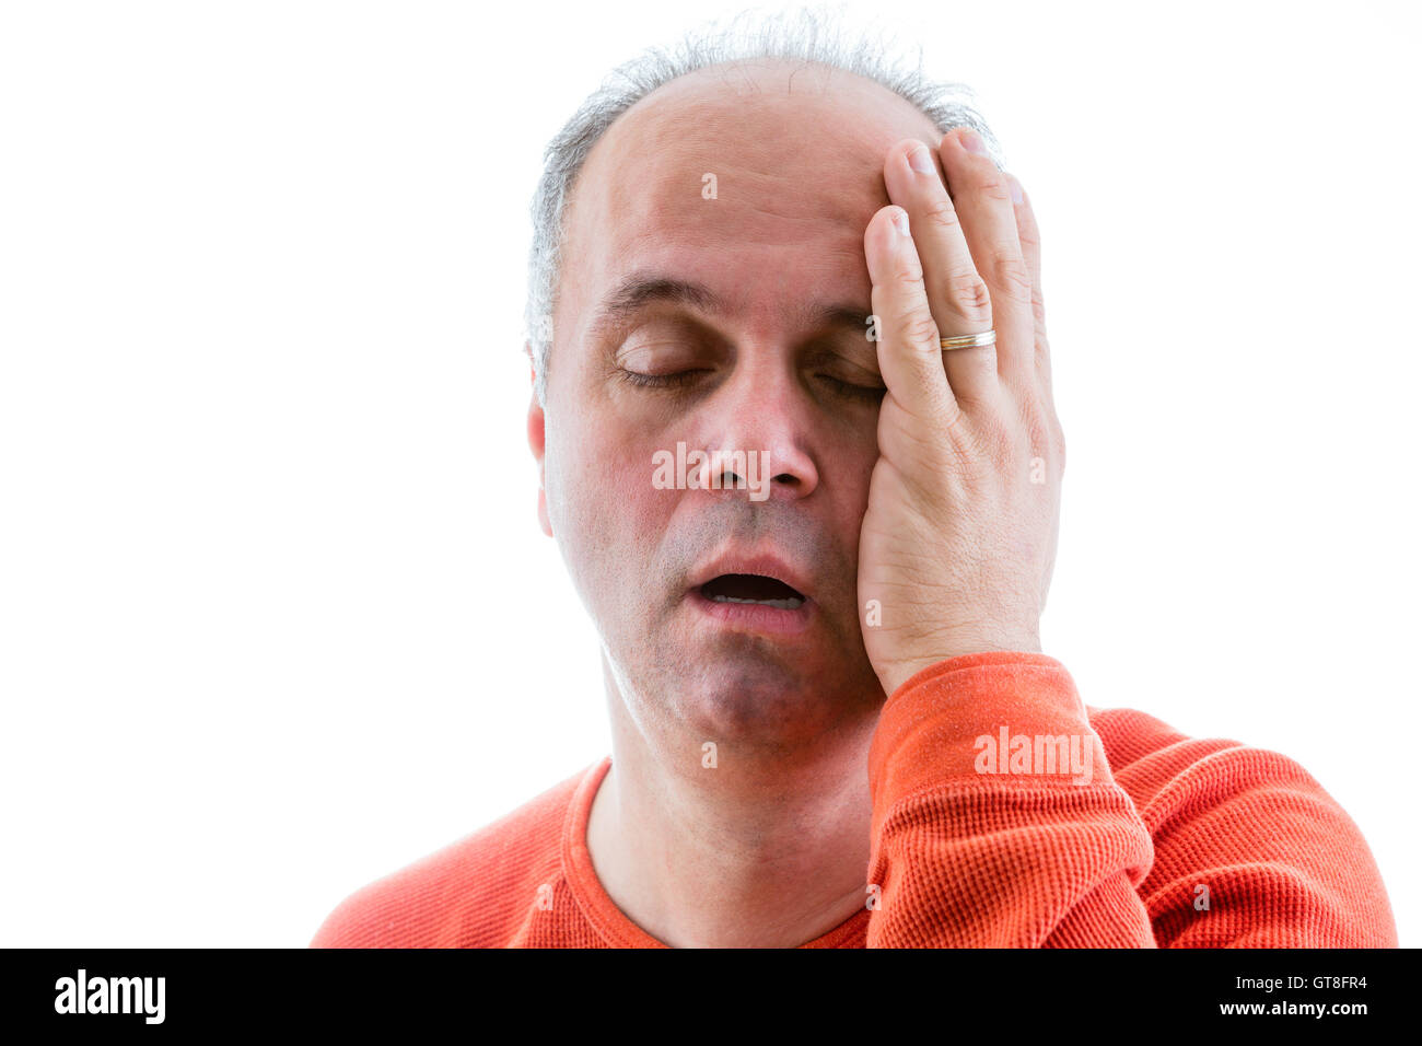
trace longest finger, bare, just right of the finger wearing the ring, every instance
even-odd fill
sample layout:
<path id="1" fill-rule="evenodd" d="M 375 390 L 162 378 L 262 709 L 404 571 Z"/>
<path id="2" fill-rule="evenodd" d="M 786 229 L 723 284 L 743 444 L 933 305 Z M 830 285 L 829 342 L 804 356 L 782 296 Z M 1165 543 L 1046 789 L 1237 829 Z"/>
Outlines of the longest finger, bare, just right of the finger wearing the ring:
<path id="1" fill-rule="evenodd" d="M 987 282 L 997 330 L 997 370 L 1024 387 L 1037 383 L 1032 337 L 1032 278 L 1017 238 L 1017 215 L 1007 175 L 968 128 L 943 135 L 939 158 L 948 175 L 948 195 L 963 219 L 973 262 Z M 968 151 L 977 142 L 984 152 Z"/>

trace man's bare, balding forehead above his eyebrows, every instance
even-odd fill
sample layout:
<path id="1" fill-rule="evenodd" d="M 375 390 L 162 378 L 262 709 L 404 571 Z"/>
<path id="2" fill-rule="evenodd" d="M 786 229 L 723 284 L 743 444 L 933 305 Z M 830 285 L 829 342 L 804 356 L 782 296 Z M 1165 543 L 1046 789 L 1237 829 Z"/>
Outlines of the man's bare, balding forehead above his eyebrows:
<path id="1" fill-rule="evenodd" d="M 563 276 L 596 296 L 633 269 L 754 280 L 785 258 L 796 266 L 776 273 L 785 290 L 852 282 L 865 226 L 889 202 L 884 154 L 909 137 L 941 135 L 893 91 L 838 70 L 764 63 L 674 80 L 589 155 Z"/>

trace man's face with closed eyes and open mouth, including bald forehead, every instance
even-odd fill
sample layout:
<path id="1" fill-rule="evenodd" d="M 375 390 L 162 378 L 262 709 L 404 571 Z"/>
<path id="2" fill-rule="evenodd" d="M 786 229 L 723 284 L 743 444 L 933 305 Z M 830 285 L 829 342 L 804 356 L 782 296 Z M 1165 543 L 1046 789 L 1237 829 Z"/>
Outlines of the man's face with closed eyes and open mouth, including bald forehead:
<path id="1" fill-rule="evenodd" d="M 530 443 L 546 525 L 643 729 L 796 747 L 883 702 L 856 596 L 883 390 L 863 235 L 907 137 L 940 138 L 872 81 L 718 67 L 624 114 L 577 178 Z M 732 475 L 654 482 L 678 443 L 765 451 L 768 497 Z M 702 588 L 728 572 L 806 599 Z"/>

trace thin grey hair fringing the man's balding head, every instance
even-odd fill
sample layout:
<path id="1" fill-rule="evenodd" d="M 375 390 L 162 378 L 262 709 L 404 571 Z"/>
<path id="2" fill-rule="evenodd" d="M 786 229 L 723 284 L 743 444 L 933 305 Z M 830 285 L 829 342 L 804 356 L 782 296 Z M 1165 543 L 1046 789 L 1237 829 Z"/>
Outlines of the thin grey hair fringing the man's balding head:
<path id="1" fill-rule="evenodd" d="M 742 28 L 747 19 L 754 23 Z M 966 84 L 936 81 L 923 74 L 923 48 L 909 65 L 890 57 L 883 40 L 843 33 L 812 9 L 761 16 L 742 11 L 725 28 L 714 23 L 684 37 L 673 50 L 650 47 L 613 70 L 543 152 L 543 176 L 533 195 L 533 248 L 529 252 L 529 297 L 523 319 L 528 349 L 535 364 L 535 393 L 546 406 L 547 367 L 553 346 L 553 305 L 563 250 L 563 215 L 573 182 L 587 155 L 609 127 L 656 91 L 678 77 L 710 65 L 784 58 L 825 65 L 873 80 L 912 102 L 940 132 L 971 127 L 987 142 L 988 155 L 1003 167 L 1001 148 L 978 114 L 973 90 Z"/>

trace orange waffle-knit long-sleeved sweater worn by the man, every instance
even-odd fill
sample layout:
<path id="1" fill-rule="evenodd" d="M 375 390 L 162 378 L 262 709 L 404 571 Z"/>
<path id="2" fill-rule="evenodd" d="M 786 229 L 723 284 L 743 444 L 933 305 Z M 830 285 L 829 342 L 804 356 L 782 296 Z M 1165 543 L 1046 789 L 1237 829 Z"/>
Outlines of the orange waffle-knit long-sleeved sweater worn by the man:
<path id="1" fill-rule="evenodd" d="M 610 763 L 361 888 L 311 946 L 663 946 L 587 854 Z M 866 907 L 806 948 L 1396 946 L 1368 844 L 1301 766 L 1088 707 L 1044 655 L 909 679 L 869 781 Z"/>

